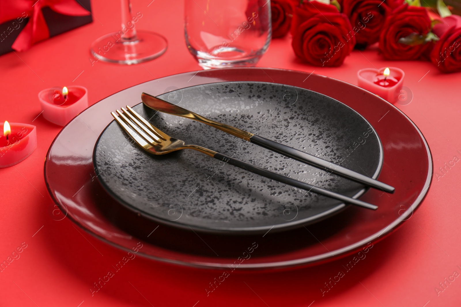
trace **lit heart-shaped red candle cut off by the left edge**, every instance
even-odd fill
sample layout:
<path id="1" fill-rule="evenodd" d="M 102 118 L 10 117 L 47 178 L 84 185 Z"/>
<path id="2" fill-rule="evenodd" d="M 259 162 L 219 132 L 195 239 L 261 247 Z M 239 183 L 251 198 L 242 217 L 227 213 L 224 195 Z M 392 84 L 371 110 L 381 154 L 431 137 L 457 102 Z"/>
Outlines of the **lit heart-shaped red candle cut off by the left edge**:
<path id="1" fill-rule="evenodd" d="M 0 124 L 3 132 L 4 123 Z M 10 123 L 11 132 L 0 136 L 0 168 L 7 168 L 23 161 L 37 147 L 35 126 Z"/>

